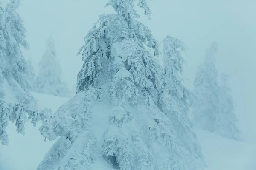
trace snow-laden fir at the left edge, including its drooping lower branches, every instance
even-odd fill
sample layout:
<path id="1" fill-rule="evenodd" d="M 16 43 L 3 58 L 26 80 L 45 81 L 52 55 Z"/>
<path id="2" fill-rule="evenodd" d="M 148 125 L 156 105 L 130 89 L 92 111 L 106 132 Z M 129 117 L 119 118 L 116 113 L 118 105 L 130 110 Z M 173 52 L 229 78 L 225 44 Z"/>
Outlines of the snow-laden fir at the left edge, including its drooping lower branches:
<path id="1" fill-rule="evenodd" d="M 44 126 L 50 119 L 50 111 L 39 111 L 35 99 L 27 92 L 30 88 L 26 77 L 29 70 L 20 48 L 28 45 L 22 20 L 15 11 L 19 3 L 19 0 L 9 0 L 5 10 L 0 7 L 0 142 L 3 145 L 8 144 L 8 122 L 15 122 L 17 133 L 24 135 L 27 119 L 31 119 L 33 125 L 44 120 Z M 17 97 L 15 103 L 5 102 L 4 81 L 12 87 L 12 93 Z"/>

